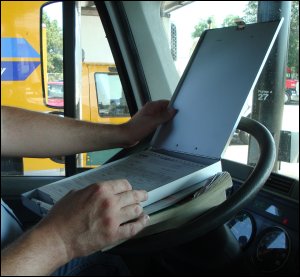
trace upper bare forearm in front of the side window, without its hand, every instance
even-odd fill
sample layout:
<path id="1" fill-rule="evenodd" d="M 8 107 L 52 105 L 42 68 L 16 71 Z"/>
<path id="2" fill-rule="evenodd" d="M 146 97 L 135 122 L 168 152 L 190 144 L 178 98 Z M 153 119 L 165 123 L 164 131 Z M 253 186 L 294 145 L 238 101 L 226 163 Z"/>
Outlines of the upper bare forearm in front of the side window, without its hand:
<path id="1" fill-rule="evenodd" d="M 96 124 L 10 107 L 1 107 L 1 116 L 1 156 L 64 156 L 127 143 L 124 125 Z"/>

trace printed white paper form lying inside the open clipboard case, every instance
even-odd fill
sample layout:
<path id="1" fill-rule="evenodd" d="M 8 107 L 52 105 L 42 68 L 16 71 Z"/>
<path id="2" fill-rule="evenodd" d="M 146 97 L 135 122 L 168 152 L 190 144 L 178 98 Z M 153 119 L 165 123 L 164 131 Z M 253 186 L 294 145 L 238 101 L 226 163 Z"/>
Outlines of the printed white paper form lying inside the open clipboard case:
<path id="1" fill-rule="evenodd" d="M 114 163 L 77 174 L 39 188 L 55 202 L 70 190 L 82 189 L 96 182 L 127 179 L 133 189 L 152 191 L 185 177 L 204 166 L 153 151 L 143 151 Z"/>

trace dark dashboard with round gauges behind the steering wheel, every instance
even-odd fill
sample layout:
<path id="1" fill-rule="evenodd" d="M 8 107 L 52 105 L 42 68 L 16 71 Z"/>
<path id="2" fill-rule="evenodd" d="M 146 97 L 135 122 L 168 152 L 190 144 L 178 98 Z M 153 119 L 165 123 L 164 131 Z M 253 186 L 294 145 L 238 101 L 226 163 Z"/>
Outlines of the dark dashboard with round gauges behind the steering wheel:
<path id="1" fill-rule="evenodd" d="M 241 181 L 234 180 L 238 189 Z M 227 226 L 241 247 L 238 271 L 299 273 L 299 202 L 261 190 Z"/>

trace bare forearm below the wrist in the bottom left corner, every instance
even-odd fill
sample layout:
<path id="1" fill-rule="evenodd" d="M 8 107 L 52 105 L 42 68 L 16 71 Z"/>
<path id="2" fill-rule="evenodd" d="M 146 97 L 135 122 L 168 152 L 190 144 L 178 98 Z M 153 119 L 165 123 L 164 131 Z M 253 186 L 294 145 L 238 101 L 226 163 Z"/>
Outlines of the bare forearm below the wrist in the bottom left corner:
<path id="1" fill-rule="evenodd" d="M 1 276 L 45 276 L 67 262 L 59 238 L 35 228 L 1 251 Z"/>

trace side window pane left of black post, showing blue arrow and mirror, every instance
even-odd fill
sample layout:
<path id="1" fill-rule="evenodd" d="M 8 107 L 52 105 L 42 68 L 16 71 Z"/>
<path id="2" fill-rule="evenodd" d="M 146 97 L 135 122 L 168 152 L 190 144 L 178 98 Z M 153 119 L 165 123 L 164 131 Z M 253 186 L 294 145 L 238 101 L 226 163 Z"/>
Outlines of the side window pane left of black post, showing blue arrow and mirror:
<path id="1" fill-rule="evenodd" d="M 1 104 L 63 114 L 61 3 L 7 1 L 1 9 Z M 64 175 L 64 159 L 1 158 L 1 174 Z"/>

